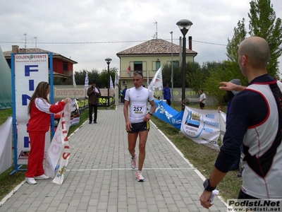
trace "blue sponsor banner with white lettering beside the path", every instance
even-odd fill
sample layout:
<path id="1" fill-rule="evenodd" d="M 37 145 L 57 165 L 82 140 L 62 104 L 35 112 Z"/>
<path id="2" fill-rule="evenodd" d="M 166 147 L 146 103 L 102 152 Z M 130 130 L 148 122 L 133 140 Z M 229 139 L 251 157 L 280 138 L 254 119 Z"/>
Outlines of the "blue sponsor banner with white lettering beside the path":
<path id="1" fill-rule="evenodd" d="M 163 100 L 154 100 L 154 102 L 157 106 L 154 116 L 168 124 L 175 126 L 177 129 L 180 129 L 183 119 L 183 111 L 178 112 L 174 110 L 173 107 L 167 105 Z"/>

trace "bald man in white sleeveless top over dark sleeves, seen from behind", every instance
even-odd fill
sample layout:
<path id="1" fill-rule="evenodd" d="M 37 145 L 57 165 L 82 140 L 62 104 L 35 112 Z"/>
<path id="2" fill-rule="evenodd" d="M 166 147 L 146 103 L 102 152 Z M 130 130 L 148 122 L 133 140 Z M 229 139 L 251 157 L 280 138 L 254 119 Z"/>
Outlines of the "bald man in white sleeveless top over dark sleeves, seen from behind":
<path id="1" fill-rule="evenodd" d="M 243 184 L 238 199 L 282 199 L 282 83 L 269 76 L 269 45 L 262 37 L 248 37 L 238 49 L 238 64 L 249 86 L 231 102 L 223 146 L 200 196 L 204 208 L 226 175 L 235 151 L 243 143 Z M 221 89 L 228 90 L 230 83 Z M 278 186 L 279 185 L 279 186 Z M 236 199 L 237 196 L 233 196 Z"/>

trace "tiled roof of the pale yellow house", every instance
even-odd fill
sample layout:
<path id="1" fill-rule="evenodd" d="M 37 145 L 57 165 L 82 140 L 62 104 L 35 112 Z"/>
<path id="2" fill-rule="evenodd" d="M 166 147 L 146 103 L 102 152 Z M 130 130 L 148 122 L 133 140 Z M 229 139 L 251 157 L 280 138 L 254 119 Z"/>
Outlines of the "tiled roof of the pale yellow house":
<path id="1" fill-rule="evenodd" d="M 188 42 L 186 42 L 187 46 Z M 179 51 L 179 45 L 173 44 L 173 54 L 179 54 Z M 197 54 L 197 52 L 187 48 L 186 53 Z M 117 55 L 121 54 L 171 54 L 171 42 L 162 39 L 152 39 L 117 53 Z"/>

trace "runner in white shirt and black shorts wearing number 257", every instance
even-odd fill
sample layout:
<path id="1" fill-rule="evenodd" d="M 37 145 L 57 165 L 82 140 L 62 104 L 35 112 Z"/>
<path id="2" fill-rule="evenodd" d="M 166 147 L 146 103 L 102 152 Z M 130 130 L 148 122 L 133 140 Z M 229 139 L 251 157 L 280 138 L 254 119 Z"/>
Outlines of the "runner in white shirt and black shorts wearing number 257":
<path id="1" fill-rule="evenodd" d="M 149 131 L 149 119 L 154 113 L 154 110 L 156 110 L 156 105 L 154 104 L 154 93 L 142 86 L 142 71 L 135 71 L 133 73 L 133 83 L 135 87 L 126 90 L 123 113 L 126 123 L 125 128 L 128 131 L 128 151 L 131 155 L 130 160 L 133 169 L 137 165 L 135 146 L 137 136 L 139 136 L 139 163 L 136 177 L 138 182 L 143 182 L 145 178 L 142 175 L 142 167 L 146 155 L 145 147 Z M 152 108 L 147 113 L 148 100 Z M 128 106 L 130 108 L 129 117 Z"/>

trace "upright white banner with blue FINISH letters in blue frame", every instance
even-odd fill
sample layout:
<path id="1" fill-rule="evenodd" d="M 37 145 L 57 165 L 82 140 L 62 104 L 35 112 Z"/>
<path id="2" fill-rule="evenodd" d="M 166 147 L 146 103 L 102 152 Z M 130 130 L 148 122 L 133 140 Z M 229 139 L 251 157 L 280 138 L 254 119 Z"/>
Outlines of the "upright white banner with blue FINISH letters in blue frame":
<path id="1" fill-rule="evenodd" d="M 41 81 L 49 81 L 48 54 L 15 54 L 15 93 L 16 120 L 18 124 L 18 164 L 27 164 L 30 152 L 30 138 L 27 133 L 27 115 L 29 104 L 35 88 Z M 45 139 L 45 150 L 50 144 L 50 132 Z"/>

